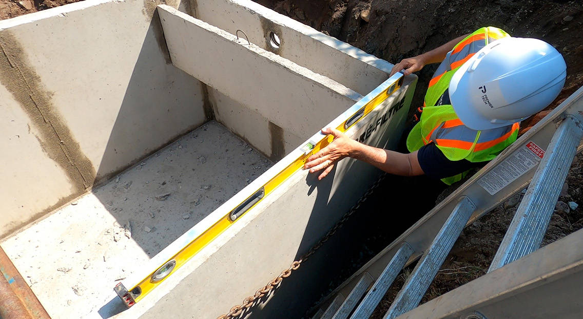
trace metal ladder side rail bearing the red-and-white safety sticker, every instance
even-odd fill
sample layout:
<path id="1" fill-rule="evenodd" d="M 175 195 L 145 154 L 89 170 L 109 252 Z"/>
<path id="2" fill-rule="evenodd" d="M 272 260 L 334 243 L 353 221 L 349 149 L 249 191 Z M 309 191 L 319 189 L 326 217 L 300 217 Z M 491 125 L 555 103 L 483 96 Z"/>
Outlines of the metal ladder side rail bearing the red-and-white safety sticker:
<path id="1" fill-rule="evenodd" d="M 546 149 L 550 143 L 550 140 L 556 131 L 556 121 L 560 119 L 560 116 L 564 114 L 578 114 L 578 112 L 583 111 L 583 87 L 579 88 L 575 93 L 571 94 L 565 101 L 563 101 L 559 107 L 553 109 L 545 118 L 540 120 L 533 126 L 528 132 L 522 134 L 517 141 L 512 143 L 507 147 L 502 153 L 500 153 L 494 160 L 491 160 L 486 166 L 484 166 L 479 172 L 467 180 L 462 186 L 459 186 L 452 194 L 450 194 L 446 199 L 442 200 L 441 203 L 437 204 L 431 211 L 429 211 L 424 217 L 419 219 L 413 226 L 402 233 L 397 239 L 395 239 L 391 244 L 389 244 L 380 253 L 374 256 L 368 263 L 363 265 L 360 270 L 356 271 L 349 279 L 342 283 L 338 288 L 333 290 L 332 293 L 322 300 L 330 300 L 333 296 L 338 293 L 343 293 L 347 295 L 350 290 L 356 285 L 360 278 L 360 275 L 367 271 L 374 278 L 378 278 L 381 272 L 384 270 L 385 266 L 391 261 L 391 258 L 395 255 L 396 251 L 399 249 L 403 242 L 408 242 L 415 253 L 409 258 L 405 267 L 417 258 L 421 257 L 421 252 L 426 250 L 431 239 L 436 235 L 438 229 L 441 228 L 445 220 L 447 219 L 449 212 L 451 212 L 462 196 L 468 196 L 474 199 L 476 204 L 476 211 L 470 217 L 468 224 L 476 221 L 478 218 L 487 214 L 487 212 L 493 210 L 498 205 L 503 203 L 505 200 L 513 196 L 514 194 L 525 189 L 531 182 L 533 175 L 535 174 L 535 169 L 531 169 L 528 172 L 518 176 L 509 185 L 505 186 L 503 189 L 497 193 L 490 195 L 487 193 L 482 186 L 477 184 L 477 181 L 483 178 L 491 171 L 494 171 L 498 166 L 504 164 L 504 160 L 510 157 L 512 154 L 517 153 L 521 148 L 525 147 L 529 141 L 533 141 L 539 147 Z M 583 146 L 580 145 L 578 151 L 583 150 Z M 481 199 L 481 200 L 480 200 Z M 315 308 L 314 308 L 315 310 Z"/>

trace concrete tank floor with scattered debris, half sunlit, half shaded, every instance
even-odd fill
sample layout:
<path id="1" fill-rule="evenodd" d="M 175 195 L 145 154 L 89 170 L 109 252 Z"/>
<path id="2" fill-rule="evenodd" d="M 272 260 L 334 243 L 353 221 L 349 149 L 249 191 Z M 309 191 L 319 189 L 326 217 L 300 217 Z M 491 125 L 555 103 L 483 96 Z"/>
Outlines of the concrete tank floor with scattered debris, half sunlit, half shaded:
<path id="1" fill-rule="evenodd" d="M 209 122 L 1 244 L 53 319 L 80 318 L 271 165 Z"/>

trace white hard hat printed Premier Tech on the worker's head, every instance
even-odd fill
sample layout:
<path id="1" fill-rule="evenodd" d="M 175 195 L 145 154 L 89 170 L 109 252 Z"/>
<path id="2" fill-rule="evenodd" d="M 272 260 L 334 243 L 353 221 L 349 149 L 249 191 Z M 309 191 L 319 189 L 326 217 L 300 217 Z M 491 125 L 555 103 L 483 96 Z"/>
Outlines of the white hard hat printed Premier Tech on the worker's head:
<path id="1" fill-rule="evenodd" d="M 565 84 L 567 65 L 552 45 L 505 37 L 476 52 L 449 81 L 449 99 L 465 126 L 511 125 L 546 108 Z"/>

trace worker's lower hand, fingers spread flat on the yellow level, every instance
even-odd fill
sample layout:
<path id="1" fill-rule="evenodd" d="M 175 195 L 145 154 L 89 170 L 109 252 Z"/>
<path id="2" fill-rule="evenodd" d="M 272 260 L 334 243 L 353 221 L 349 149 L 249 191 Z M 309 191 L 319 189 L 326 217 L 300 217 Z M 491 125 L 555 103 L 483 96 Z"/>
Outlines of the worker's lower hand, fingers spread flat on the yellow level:
<path id="1" fill-rule="evenodd" d="M 310 156 L 308 161 L 304 164 L 304 169 L 310 169 L 310 173 L 318 172 L 324 169 L 324 172 L 320 173 L 318 180 L 325 178 L 329 172 L 332 171 L 334 165 L 342 158 L 349 157 L 352 151 L 355 149 L 357 141 L 350 139 L 342 132 L 331 127 L 326 127 L 322 129 L 323 134 L 332 134 L 334 140 L 328 146 L 322 148 L 318 153 Z"/>

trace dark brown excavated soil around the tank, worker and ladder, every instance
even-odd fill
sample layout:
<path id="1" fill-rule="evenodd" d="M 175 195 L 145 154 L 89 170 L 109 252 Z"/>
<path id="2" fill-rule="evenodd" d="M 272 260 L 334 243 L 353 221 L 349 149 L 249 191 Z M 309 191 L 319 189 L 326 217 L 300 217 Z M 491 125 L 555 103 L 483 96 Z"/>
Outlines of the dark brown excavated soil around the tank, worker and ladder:
<path id="1" fill-rule="evenodd" d="M 0 19 L 71 2 L 76 0 L 0 0 Z M 581 58 L 583 44 L 578 41 L 583 24 L 583 3 L 580 1 L 257 0 L 256 2 L 393 63 L 422 54 L 482 26 L 500 27 L 512 36 L 541 38 L 563 54 L 567 62 L 567 81 L 553 104 L 522 123 L 521 133 L 532 127 L 550 109 L 559 105 L 583 84 Z M 422 104 L 423 88 L 427 87 L 436 68 L 437 65 L 429 65 L 417 72 L 419 90 L 416 91 L 413 106 Z M 571 166 L 566 187 L 559 197 L 562 204 L 557 204 L 559 209 L 553 214 L 543 245 L 583 228 L 582 175 L 583 156 L 578 155 Z M 395 184 L 402 187 L 395 190 L 395 187 L 392 187 Z M 423 185 L 423 189 L 429 191 L 425 191 L 423 196 L 416 197 L 407 191 L 419 185 Z M 385 179 L 374 196 L 363 205 L 362 214 L 356 214 L 373 221 L 366 228 L 371 235 L 361 244 L 360 254 L 353 259 L 352 269 L 345 270 L 346 277 L 429 211 L 435 201 L 440 201 L 445 194 L 451 192 L 451 189 L 448 189 L 438 196 L 443 188 L 440 183 L 427 180 L 423 176 L 413 179 L 389 176 Z M 387 216 L 383 215 L 387 213 L 378 210 L 385 201 L 382 194 L 386 192 L 398 192 L 403 198 L 423 197 L 424 200 L 408 201 L 403 207 L 394 209 L 400 214 L 395 214 L 398 218 L 391 217 L 394 219 L 392 223 L 378 223 L 375 222 L 378 218 L 387 219 Z M 574 210 L 565 208 L 565 204 L 570 201 L 580 204 L 580 207 Z M 411 203 L 415 203 L 413 207 Z M 516 208 L 517 200 L 508 200 L 463 231 L 422 303 L 486 272 Z M 387 292 L 371 318 L 382 318 L 413 266 L 406 268 L 399 275 L 396 284 Z M 338 283 L 342 281 L 343 278 L 339 278 Z M 331 286 L 333 289 L 333 285 Z"/>

